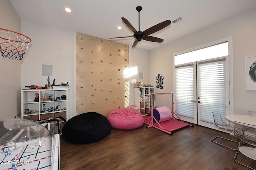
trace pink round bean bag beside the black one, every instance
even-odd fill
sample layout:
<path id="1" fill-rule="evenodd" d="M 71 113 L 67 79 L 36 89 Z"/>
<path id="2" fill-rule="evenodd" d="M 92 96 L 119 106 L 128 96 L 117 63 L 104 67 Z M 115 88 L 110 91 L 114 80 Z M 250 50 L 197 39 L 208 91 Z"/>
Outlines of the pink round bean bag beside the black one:
<path id="1" fill-rule="evenodd" d="M 115 129 L 136 129 L 144 123 L 140 112 L 133 109 L 116 109 L 109 113 L 107 117 L 111 127 Z"/>

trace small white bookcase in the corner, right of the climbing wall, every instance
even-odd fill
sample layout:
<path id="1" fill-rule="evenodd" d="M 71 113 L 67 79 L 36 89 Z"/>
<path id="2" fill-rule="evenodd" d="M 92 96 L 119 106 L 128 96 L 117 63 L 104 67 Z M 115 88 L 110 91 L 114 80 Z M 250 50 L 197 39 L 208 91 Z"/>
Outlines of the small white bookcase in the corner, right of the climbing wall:
<path id="1" fill-rule="evenodd" d="M 154 87 L 134 87 L 134 105 L 140 106 L 140 113 L 142 115 L 148 115 L 148 111 L 151 107 L 151 94 L 154 93 Z M 155 99 L 153 95 L 153 106 L 155 105 Z"/>

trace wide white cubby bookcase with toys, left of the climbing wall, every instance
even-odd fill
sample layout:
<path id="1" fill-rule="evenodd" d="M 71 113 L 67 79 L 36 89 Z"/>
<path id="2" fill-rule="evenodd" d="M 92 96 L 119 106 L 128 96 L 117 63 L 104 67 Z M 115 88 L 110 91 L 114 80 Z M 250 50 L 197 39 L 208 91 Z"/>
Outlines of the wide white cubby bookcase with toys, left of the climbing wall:
<path id="1" fill-rule="evenodd" d="M 68 90 L 68 88 L 22 90 L 21 118 L 36 121 L 62 116 L 66 119 L 68 115 Z M 38 94 L 38 100 L 35 100 L 36 94 Z"/>

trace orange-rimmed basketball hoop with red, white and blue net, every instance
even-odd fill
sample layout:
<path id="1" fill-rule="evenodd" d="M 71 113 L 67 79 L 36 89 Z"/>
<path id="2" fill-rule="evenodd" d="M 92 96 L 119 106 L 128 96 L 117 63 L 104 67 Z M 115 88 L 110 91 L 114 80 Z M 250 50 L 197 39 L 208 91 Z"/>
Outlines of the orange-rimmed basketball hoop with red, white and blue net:
<path id="1" fill-rule="evenodd" d="M 22 60 L 30 42 L 26 35 L 0 28 L 0 52 L 4 58 Z"/>

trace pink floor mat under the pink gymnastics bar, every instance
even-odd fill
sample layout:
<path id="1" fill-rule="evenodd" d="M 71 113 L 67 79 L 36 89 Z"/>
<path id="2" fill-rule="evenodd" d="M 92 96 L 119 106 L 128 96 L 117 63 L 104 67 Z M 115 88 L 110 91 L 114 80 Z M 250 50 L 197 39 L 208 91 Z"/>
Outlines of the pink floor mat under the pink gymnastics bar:
<path id="1" fill-rule="evenodd" d="M 181 129 L 183 127 L 192 126 L 188 123 L 176 120 L 176 119 L 169 119 L 167 121 L 162 121 L 159 123 L 153 122 L 150 116 L 144 116 L 144 123 L 149 125 L 149 127 L 155 127 L 156 129 L 159 129 L 161 131 L 164 131 L 166 133 L 169 133 L 172 135 L 173 131 L 176 131 L 178 129 Z"/>

